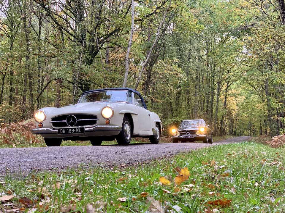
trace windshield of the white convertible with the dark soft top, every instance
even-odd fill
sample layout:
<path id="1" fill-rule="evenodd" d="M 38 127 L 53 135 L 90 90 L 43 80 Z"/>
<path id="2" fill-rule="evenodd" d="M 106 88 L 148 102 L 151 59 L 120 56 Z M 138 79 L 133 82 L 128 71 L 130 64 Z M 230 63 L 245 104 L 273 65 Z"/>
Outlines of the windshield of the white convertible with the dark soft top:
<path id="1" fill-rule="evenodd" d="M 104 101 L 122 101 L 132 104 L 132 92 L 124 90 L 107 90 L 83 94 L 78 103 Z"/>

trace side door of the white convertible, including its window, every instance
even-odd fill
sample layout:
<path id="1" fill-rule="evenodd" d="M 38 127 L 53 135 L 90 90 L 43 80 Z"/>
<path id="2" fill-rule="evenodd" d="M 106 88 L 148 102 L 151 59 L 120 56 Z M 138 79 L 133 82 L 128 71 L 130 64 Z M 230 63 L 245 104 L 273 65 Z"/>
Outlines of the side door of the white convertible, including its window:
<path id="1" fill-rule="evenodd" d="M 138 112 L 138 123 L 140 130 L 151 130 L 151 112 L 143 107 L 143 101 L 137 93 L 134 93 L 135 107 Z"/>

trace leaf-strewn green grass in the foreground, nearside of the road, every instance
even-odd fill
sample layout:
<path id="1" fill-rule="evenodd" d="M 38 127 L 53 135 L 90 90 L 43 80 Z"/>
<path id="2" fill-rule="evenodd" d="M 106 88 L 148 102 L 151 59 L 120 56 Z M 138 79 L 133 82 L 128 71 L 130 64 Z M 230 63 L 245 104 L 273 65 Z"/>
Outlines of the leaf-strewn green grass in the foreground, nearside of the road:
<path id="1" fill-rule="evenodd" d="M 245 142 L 136 167 L 8 175 L 0 180 L 0 200 L 10 199 L 0 201 L 0 212 L 285 212 L 284 151 Z M 184 176 L 180 168 L 187 168 Z"/>

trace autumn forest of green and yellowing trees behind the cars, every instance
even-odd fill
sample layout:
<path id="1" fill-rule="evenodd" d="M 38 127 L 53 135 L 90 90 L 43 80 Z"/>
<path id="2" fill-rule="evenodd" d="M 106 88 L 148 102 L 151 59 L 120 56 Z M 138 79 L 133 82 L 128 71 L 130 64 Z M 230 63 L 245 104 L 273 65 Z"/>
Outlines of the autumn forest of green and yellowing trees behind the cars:
<path id="1" fill-rule="evenodd" d="M 285 131 L 284 0 L 0 0 L 0 122 L 134 88 L 167 130 Z M 165 131 L 167 134 L 167 131 Z"/>

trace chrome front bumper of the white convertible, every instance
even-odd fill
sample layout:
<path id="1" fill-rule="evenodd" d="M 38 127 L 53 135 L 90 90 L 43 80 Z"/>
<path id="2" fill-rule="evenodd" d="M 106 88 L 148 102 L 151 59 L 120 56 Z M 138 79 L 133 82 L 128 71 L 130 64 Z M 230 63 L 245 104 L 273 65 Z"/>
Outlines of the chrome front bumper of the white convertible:
<path id="1" fill-rule="evenodd" d="M 121 130 L 122 130 L 122 127 L 107 126 L 107 125 L 99 125 L 95 127 L 85 128 L 85 132 L 105 132 L 105 131 L 121 131 Z M 58 131 L 57 129 L 51 129 L 51 128 L 37 128 L 37 129 L 32 129 L 31 132 L 33 134 L 57 134 Z"/>

